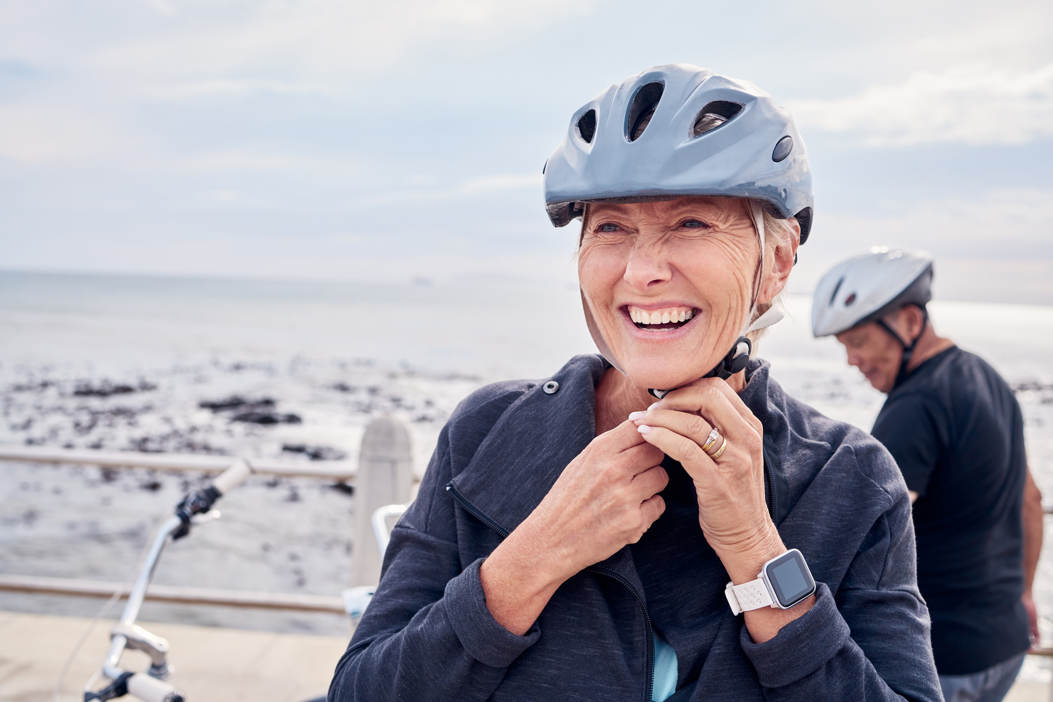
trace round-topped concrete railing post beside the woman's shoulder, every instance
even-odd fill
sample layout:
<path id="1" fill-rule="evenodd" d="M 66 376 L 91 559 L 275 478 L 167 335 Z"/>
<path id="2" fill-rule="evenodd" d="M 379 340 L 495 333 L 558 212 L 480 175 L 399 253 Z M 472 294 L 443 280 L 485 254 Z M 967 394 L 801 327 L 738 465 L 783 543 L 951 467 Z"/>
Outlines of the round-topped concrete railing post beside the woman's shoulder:
<path id="1" fill-rule="evenodd" d="M 410 433 L 399 420 L 380 417 L 365 427 L 355 478 L 352 585 L 376 585 L 380 580 L 380 551 L 373 536 L 371 518 L 378 507 L 410 501 L 412 458 Z"/>

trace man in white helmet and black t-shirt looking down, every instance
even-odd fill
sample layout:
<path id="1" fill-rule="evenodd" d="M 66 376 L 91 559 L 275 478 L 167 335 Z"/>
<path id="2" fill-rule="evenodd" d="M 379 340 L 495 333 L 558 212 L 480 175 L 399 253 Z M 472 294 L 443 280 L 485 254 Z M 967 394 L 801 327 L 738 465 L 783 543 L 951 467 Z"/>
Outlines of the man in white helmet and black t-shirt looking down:
<path id="1" fill-rule="evenodd" d="M 832 268 L 812 306 L 816 337 L 889 397 L 874 437 L 899 464 L 914 504 L 918 587 L 947 702 L 997 702 L 1038 641 L 1031 595 L 1041 495 L 1006 381 L 936 335 L 926 304 L 932 259 L 873 249 Z"/>

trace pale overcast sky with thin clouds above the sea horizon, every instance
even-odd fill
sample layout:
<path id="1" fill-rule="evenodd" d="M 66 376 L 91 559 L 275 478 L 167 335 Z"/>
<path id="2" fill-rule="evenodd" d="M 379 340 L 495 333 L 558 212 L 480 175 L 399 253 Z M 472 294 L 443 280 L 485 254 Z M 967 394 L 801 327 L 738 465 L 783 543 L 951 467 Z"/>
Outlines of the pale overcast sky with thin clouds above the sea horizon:
<path id="1" fill-rule="evenodd" d="M 672 62 L 794 112 L 798 289 L 888 244 L 1053 302 L 1049 0 L 3 2 L 0 268 L 568 284 L 541 165 Z"/>

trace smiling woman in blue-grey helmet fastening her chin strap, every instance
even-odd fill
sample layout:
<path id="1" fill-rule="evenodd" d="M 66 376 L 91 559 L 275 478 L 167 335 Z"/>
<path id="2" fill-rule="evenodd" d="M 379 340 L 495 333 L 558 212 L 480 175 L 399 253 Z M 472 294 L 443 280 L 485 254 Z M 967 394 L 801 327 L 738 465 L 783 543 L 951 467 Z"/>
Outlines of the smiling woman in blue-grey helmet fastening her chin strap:
<path id="1" fill-rule="evenodd" d="M 941 699 L 895 462 L 751 358 L 811 229 L 789 112 L 656 66 L 544 187 L 601 356 L 461 403 L 331 702 Z"/>

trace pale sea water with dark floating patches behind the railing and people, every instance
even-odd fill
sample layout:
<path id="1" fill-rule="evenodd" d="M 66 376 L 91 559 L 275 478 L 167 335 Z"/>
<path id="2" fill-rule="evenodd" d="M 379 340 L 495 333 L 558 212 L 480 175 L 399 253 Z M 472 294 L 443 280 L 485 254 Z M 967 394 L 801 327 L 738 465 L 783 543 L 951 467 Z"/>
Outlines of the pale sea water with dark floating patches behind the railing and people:
<path id="1" fill-rule="evenodd" d="M 883 396 L 835 340 L 812 338 L 807 296 L 787 296 L 784 306 L 759 346 L 772 376 L 823 414 L 869 429 Z M 941 335 L 1016 388 L 1031 469 L 1053 497 L 1053 307 L 936 301 L 930 313 Z M 392 415 L 410 428 L 419 475 L 473 389 L 545 378 L 588 353 L 595 347 L 572 285 L 0 273 L 0 443 L 354 461 L 370 419 Z M 216 408 L 232 398 L 299 421 L 235 421 L 237 408 Z M 123 581 L 153 526 L 196 480 L 0 463 L 0 571 Z M 220 520 L 170 547 L 156 582 L 321 595 L 346 586 L 359 542 L 346 490 L 257 478 L 219 507 Z M 1036 595 L 1048 619 L 1049 558 Z M 92 614 L 98 602 L 2 595 L 0 606 Z M 346 631 L 336 616 L 219 607 L 147 604 L 143 618 Z"/>

